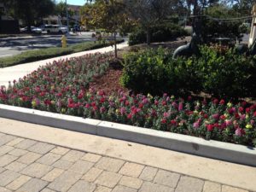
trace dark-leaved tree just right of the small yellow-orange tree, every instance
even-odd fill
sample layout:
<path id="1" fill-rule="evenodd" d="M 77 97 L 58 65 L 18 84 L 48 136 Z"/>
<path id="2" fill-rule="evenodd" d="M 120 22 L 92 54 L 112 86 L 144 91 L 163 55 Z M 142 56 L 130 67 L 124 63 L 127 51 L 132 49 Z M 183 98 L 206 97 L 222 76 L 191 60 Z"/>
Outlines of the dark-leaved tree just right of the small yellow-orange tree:
<path id="1" fill-rule="evenodd" d="M 147 44 L 150 44 L 150 27 L 172 15 L 178 2 L 178 0 L 124 0 L 130 17 L 137 20 L 147 32 Z"/>

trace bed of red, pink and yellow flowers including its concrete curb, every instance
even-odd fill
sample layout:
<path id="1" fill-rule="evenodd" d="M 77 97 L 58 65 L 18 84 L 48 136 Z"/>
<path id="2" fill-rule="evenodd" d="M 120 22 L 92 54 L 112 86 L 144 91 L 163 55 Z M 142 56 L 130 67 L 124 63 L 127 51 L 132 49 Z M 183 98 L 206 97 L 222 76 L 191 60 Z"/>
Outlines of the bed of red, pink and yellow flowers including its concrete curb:
<path id="1" fill-rule="evenodd" d="M 39 67 L 0 88 L 0 116 L 256 166 L 256 104 L 90 89 L 112 58 L 84 55 Z"/>

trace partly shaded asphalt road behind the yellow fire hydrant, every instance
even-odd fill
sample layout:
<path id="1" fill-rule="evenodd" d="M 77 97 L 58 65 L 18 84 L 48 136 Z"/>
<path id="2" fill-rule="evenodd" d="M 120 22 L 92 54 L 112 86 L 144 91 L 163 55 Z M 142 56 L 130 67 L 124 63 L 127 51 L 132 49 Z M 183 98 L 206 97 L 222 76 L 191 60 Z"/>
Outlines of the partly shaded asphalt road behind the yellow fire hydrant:
<path id="1" fill-rule="evenodd" d="M 82 32 L 78 35 L 69 35 L 67 44 L 78 44 L 92 40 L 92 32 Z M 22 51 L 30 49 L 42 49 L 48 47 L 61 47 L 61 35 L 38 35 L 16 38 L 0 38 L 0 58 L 18 55 Z"/>

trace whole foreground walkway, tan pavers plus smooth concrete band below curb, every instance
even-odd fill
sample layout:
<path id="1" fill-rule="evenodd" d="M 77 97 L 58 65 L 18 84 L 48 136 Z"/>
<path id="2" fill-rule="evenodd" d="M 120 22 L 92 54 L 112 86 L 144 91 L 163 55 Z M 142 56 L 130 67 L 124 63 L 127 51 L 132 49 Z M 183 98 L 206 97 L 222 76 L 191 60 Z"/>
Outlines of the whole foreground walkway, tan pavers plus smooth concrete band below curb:
<path id="1" fill-rule="evenodd" d="M 0 191 L 247 192 L 255 180 L 255 167 L 0 118 Z"/>

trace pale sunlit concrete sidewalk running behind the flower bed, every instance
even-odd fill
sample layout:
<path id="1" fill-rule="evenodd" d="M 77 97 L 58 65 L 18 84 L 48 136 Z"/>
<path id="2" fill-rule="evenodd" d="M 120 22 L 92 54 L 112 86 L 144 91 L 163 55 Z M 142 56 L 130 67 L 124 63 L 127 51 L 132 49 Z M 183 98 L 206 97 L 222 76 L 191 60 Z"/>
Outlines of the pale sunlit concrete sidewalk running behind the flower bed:
<path id="1" fill-rule="evenodd" d="M 122 49 L 127 46 L 128 46 L 127 42 L 117 45 L 118 49 Z M 13 66 L 13 67 L 0 68 L 0 86 L 1 85 L 8 86 L 9 81 L 13 82 L 13 80 L 18 80 L 20 78 L 23 78 L 26 74 L 32 73 L 32 71 L 38 69 L 38 67 L 44 66 L 49 62 L 58 61 L 61 59 L 68 59 L 68 58 L 76 57 L 76 56 L 82 56 L 82 55 L 86 55 L 86 54 L 92 54 L 92 53 L 107 53 L 107 52 L 110 52 L 113 50 L 114 49 L 112 46 L 108 46 L 108 47 L 105 47 L 102 49 L 87 50 L 87 51 L 83 51 L 83 52 L 79 52 L 79 53 L 74 53 L 71 55 L 58 56 L 58 57 L 51 58 L 51 59 L 46 59 L 46 60 L 42 60 L 42 61 L 34 61 L 34 62 L 30 62 L 30 63 L 20 64 L 20 65 Z"/>

